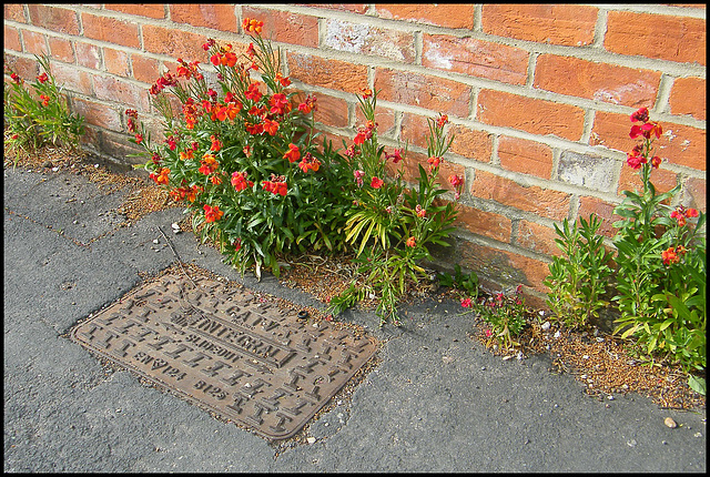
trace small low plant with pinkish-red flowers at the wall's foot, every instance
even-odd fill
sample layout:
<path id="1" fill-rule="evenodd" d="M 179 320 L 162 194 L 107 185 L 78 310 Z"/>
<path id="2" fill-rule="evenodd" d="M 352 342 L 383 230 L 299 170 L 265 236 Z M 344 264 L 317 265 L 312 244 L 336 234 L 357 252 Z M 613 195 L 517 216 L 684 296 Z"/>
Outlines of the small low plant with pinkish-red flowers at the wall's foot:
<path id="1" fill-rule="evenodd" d="M 462 306 L 473 308 L 490 328 L 484 331 L 486 346 L 494 343 L 500 349 L 508 351 L 520 344 L 515 339 L 520 335 L 527 322 L 525 319 L 526 306 L 525 296 L 523 296 L 523 285 L 518 285 L 513 296 L 506 296 L 505 293 L 497 293 L 495 296 L 481 297 L 480 301 L 469 297 L 462 301 Z"/>

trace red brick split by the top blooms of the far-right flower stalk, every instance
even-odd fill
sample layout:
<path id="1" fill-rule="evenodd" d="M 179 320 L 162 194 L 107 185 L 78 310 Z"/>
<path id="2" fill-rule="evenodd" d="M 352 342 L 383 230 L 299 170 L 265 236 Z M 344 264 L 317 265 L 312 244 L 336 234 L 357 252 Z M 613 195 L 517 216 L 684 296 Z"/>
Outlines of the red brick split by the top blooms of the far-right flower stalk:
<path id="1" fill-rule="evenodd" d="M 631 124 L 626 114 L 597 112 L 589 143 L 629 152 L 637 143 L 629 138 Z M 673 123 L 661 123 L 661 126 L 663 135 L 656 141 L 655 155 L 667 159 L 671 164 L 704 171 L 706 131 Z"/>

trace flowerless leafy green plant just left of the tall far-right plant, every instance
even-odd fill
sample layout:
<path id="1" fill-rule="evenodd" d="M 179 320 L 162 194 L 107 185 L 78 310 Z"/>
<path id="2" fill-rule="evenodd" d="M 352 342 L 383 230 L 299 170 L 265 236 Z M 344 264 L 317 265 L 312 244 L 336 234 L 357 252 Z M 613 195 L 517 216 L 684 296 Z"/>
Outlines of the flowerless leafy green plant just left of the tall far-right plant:
<path id="1" fill-rule="evenodd" d="M 597 235 L 601 220 L 595 214 L 588 221 L 579 219 L 571 227 L 567 219 L 562 229 L 555 224 L 560 238 L 555 243 L 565 254 L 556 256 L 549 265 L 550 275 L 545 285 L 550 288 L 547 304 L 557 321 L 571 328 L 582 327 L 607 302 L 601 300 L 611 274 L 608 266 L 611 254 L 604 246 L 604 237 Z"/>

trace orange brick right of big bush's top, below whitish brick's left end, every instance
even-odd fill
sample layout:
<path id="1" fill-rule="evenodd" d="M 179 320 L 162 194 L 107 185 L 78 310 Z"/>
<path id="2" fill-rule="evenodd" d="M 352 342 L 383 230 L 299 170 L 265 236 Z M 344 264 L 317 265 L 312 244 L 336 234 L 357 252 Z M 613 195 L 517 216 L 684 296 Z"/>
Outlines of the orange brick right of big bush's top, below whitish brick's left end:
<path id="1" fill-rule="evenodd" d="M 367 67 L 312 54 L 287 52 L 292 80 L 358 94 L 367 88 Z"/>

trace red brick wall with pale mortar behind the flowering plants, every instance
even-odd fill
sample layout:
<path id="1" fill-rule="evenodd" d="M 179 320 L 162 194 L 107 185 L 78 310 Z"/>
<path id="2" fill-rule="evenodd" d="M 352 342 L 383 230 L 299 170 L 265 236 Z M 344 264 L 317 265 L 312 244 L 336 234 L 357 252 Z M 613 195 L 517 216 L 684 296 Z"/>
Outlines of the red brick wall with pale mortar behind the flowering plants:
<path id="1" fill-rule="evenodd" d="M 443 262 L 491 287 L 546 288 L 554 224 L 596 212 L 613 234 L 629 114 L 662 123 L 662 190 L 706 211 L 704 4 L 6 4 L 4 58 L 33 77 L 32 53 L 87 116 L 87 148 L 131 161 L 130 106 L 154 112 L 148 88 L 175 59 L 207 62 L 207 38 L 245 47 L 243 18 L 265 22 L 294 87 L 315 92 L 316 120 L 351 140 L 355 94 L 382 90 L 381 135 L 425 161 L 426 118 L 448 114 L 448 171 L 466 177 L 456 244 Z M 414 170 L 414 168 L 413 168 Z M 446 175 L 444 175 L 446 176 Z"/>

